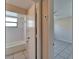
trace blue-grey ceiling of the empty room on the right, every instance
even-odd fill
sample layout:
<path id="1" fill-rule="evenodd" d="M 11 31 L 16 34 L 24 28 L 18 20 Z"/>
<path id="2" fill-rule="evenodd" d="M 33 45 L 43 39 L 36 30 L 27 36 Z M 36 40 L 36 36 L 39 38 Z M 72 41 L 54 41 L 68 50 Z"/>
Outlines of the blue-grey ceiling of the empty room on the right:
<path id="1" fill-rule="evenodd" d="M 72 16 L 72 0 L 54 0 L 54 18 Z"/>

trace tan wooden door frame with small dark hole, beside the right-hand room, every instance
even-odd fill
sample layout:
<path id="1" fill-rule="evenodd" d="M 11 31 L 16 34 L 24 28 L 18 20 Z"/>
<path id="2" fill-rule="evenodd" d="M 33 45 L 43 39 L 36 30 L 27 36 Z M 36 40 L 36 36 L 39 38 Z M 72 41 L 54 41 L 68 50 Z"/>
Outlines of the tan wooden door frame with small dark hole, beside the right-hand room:
<path id="1" fill-rule="evenodd" d="M 42 59 L 54 59 L 54 0 L 42 0 Z"/>

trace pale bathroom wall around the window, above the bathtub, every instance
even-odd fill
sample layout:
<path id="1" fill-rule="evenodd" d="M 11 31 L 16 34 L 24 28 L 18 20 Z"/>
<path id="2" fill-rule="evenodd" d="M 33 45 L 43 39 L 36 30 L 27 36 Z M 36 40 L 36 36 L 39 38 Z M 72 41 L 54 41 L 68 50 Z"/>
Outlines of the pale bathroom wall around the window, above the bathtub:
<path id="1" fill-rule="evenodd" d="M 24 40 L 24 16 L 18 15 L 18 27 L 6 28 L 6 43 Z"/>

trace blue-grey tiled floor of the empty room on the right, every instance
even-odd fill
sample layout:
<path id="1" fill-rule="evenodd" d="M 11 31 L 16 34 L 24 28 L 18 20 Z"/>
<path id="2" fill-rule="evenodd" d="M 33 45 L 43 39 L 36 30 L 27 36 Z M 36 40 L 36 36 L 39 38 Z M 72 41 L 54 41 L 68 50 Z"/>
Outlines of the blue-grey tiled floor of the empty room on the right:
<path id="1" fill-rule="evenodd" d="M 54 40 L 54 59 L 72 59 L 72 43 Z"/>

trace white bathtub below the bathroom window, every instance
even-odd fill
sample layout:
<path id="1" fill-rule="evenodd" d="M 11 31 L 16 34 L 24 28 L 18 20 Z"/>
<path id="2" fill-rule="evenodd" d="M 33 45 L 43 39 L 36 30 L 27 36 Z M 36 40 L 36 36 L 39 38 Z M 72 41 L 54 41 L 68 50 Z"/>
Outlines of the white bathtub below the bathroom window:
<path id="1" fill-rule="evenodd" d="M 6 45 L 6 55 L 11 55 L 19 51 L 26 50 L 26 42 L 25 41 L 17 41 L 8 43 Z"/>

